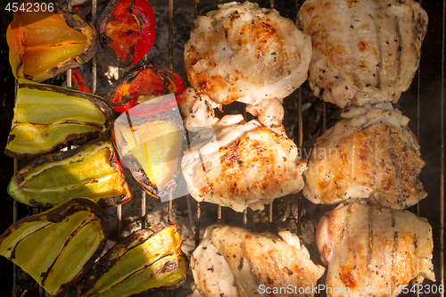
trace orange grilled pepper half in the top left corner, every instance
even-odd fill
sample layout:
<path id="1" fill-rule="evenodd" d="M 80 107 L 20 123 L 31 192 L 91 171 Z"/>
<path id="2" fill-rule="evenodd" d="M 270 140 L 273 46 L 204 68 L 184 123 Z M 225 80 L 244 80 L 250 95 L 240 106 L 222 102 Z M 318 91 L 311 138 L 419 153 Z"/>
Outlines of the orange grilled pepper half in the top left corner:
<path id="1" fill-rule="evenodd" d="M 21 2 L 26 4 L 25 7 L 29 7 L 28 3 L 38 2 Z M 98 47 L 95 28 L 56 5 L 54 12 L 29 12 L 29 9 L 14 12 L 6 30 L 6 40 L 14 76 L 35 81 L 54 78 L 65 70 L 78 67 L 90 60 Z"/>

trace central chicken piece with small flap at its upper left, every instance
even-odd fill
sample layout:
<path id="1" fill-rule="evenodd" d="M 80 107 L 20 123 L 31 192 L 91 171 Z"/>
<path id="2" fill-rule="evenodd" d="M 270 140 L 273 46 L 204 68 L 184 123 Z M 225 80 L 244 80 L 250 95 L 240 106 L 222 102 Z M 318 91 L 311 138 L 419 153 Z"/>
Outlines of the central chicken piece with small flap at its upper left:
<path id="1" fill-rule="evenodd" d="M 207 95 L 188 90 L 179 103 L 186 128 L 198 132 L 181 162 L 196 201 L 263 210 L 264 204 L 301 191 L 306 163 L 282 125 L 268 128 L 241 114 L 218 120 L 207 101 Z"/>

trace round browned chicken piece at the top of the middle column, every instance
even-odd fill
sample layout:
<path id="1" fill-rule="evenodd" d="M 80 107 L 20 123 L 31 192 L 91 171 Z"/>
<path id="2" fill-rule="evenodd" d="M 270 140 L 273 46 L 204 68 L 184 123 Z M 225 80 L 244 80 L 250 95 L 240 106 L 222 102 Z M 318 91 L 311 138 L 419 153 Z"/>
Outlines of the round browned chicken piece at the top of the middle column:
<path id="1" fill-rule="evenodd" d="M 216 103 L 281 101 L 308 76 L 310 37 L 274 9 L 220 4 L 194 25 L 185 45 L 187 78 Z"/>

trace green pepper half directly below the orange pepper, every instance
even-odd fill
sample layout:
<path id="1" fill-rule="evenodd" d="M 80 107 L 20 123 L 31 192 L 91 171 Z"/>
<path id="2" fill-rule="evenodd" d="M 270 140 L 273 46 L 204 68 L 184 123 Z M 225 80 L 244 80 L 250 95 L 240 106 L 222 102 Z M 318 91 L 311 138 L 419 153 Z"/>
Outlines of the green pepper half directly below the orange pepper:
<path id="1" fill-rule="evenodd" d="M 86 144 L 109 132 L 111 116 L 100 97 L 20 79 L 4 153 L 23 159 Z"/>

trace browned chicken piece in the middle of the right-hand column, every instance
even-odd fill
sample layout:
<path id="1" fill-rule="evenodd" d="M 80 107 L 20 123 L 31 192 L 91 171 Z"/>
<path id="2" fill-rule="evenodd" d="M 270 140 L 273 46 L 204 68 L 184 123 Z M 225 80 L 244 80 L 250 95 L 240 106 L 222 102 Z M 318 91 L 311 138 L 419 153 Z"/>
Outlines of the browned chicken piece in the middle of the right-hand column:
<path id="1" fill-rule="evenodd" d="M 305 197 L 329 204 L 368 198 L 400 210 L 425 198 L 418 180 L 425 162 L 401 111 L 385 103 L 351 108 L 343 117 L 311 152 Z"/>

